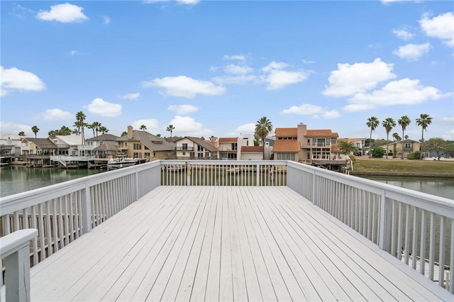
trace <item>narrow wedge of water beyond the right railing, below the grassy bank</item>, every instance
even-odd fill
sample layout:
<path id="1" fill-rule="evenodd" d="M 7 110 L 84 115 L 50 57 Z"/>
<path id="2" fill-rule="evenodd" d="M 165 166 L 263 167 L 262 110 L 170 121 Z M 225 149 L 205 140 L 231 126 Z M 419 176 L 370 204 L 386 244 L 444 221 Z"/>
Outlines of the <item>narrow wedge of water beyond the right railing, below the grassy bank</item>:
<path id="1" fill-rule="evenodd" d="M 454 179 L 415 179 L 406 177 L 364 177 L 427 194 L 454 199 Z"/>

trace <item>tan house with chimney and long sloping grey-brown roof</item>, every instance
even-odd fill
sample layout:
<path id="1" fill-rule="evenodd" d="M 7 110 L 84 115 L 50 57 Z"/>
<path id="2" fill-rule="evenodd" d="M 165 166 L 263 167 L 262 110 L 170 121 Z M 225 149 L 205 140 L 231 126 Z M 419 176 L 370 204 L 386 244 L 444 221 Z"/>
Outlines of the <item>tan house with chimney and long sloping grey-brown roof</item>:
<path id="1" fill-rule="evenodd" d="M 118 152 L 126 157 L 145 158 L 150 160 L 166 160 L 174 151 L 175 143 L 167 142 L 164 138 L 142 130 L 133 130 L 128 126 L 128 132 L 116 139 Z"/>

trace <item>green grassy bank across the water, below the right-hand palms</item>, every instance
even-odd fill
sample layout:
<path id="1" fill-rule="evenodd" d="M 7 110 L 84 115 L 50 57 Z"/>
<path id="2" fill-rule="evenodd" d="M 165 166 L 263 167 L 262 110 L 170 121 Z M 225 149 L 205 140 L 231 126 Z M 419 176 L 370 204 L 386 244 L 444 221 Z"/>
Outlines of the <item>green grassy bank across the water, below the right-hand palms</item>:
<path id="1" fill-rule="evenodd" d="M 358 174 L 418 174 L 418 175 L 452 175 L 454 161 L 438 162 L 433 160 L 386 160 L 357 158 L 353 167 Z"/>

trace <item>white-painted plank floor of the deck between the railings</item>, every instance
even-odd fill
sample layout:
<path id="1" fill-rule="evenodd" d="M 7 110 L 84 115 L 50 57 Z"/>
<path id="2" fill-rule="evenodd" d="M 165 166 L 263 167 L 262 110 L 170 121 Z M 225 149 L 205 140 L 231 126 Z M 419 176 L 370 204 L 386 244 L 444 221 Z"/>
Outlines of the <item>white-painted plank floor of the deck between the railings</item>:
<path id="1" fill-rule="evenodd" d="M 443 291 L 288 187 L 160 186 L 31 269 L 32 301 L 452 296 Z"/>

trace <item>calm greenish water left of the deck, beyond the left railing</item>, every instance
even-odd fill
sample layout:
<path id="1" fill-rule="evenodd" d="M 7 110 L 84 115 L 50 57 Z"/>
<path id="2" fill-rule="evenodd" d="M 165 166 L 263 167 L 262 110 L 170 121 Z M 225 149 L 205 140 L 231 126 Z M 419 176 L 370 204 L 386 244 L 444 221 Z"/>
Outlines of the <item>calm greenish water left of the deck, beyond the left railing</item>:
<path id="1" fill-rule="evenodd" d="M 27 168 L 6 166 L 0 168 L 0 197 L 58 184 L 106 171 L 101 169 Z"/>

